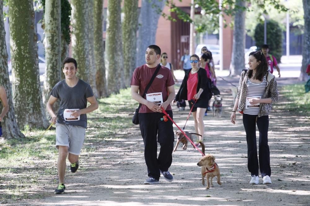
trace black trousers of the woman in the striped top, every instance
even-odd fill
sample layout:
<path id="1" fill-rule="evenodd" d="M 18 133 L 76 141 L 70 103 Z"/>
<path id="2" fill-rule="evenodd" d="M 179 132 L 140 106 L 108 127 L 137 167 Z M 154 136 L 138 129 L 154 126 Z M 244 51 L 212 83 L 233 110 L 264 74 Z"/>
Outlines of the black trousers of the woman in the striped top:
<path id="1" fill-rule="evenodd" d="M 248 170 L 251 176 L 258 176 L 258 169 L 262 177 L 271 175 L 270 151 L 268 146 L 269 117 L 243 114 L 243 126 L 246 130 L 246 143 L 248 145 Z M 257 158 L 256 124 L 259 131 L 259 158 Z"/>

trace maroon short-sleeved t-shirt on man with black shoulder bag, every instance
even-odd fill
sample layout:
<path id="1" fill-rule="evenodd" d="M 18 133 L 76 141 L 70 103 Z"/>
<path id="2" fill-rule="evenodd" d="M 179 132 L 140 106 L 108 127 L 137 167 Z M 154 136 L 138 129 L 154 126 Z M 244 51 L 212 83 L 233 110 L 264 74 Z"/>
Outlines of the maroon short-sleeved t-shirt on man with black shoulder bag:
<path id="1" fill-rule="evenodd" d="M 148 83 L 150 82 L 157 66 L 154 68 L 149 68 L 145 64 L 135 68 L 134 73 L 132 74 L 130 85 L 139 86 L 139 94 L 142 96 L 144 90 Z M 174 85 L 174 80 L 171 74 L 171 71 L 166 67 L 161 67 L 148 89 L 147 94 L 162 92 L 162 100 L 165 102 L 168 98 L 168 87 Z M 146 99 L 146 96 L 144 96 Z M 172 110 L 171 106 L 168 105 L 166 110 Z M 148 109 L 148 107 L 144 104 L 141 105 L 139 113 L 151 113 L 152 110 Z"/>

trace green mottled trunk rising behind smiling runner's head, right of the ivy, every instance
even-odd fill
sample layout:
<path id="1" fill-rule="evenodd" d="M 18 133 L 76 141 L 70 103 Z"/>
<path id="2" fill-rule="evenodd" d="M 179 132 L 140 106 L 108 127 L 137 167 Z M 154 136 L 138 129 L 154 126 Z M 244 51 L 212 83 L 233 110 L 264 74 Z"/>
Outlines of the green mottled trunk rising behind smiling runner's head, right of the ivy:
<path id="1" fill-rule="evenodd" d="M 88 4 L 87 1 L 71 1 L 71 25 L 72 25 L 72 57 L 78 62 L 77 76 L 86 82 L 89 82 L 90 62 L 88 57 L 88 46 L 90 31 L 87 30 L 88 21 Z"/>

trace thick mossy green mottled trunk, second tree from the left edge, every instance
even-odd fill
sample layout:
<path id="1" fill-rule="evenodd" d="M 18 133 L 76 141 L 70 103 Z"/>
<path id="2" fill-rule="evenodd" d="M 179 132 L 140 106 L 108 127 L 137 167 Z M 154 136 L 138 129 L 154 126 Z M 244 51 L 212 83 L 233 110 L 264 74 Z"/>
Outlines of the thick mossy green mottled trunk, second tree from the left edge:
<path id="1" fill-rule="evenodd" d="M 47 128 L 40 87 L 33 0 L 10 0 L 13 102 L 18 126 Z"/>

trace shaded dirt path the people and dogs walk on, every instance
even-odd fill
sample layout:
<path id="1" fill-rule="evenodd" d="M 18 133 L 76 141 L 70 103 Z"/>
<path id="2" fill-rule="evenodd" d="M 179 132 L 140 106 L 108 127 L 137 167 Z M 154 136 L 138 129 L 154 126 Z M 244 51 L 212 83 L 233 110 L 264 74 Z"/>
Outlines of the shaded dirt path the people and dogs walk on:
<path id="1" fill-rule="evenodd" d="M 237 84 L 237 79 L 232 80 Z M 133 125 L 124 128 L 117 139 L 111 138 L 98 145 L 86 141 L 85 145 L 92 145 L 94 151 L 82 154 L 81 169 L 76 174 L 67 172 L 65 194 L 54 195 L 54 186 L 46 187 L 44 199 L 20 204 L 309 205 L 309 117 L 281 109 L 285 102 L 280 97 L 270 115 L 268 136 L 272 184 L 263 185 L 260 179 L 259 185 L 250 185 L 241 115 L 237 115 L 236 125 L 229 121 L 232 109 L 230 86 L 222 80 L 218 85 L 222 85 L 219 89 L 224 99 L 222 118 L 209 115 L 204 122 L 206 153 L 216 158 L 223 182 L 221 186 L 214 181 L 214 187 L 205 190 L 201 184 L 200 167 L 196 165 L 200 153 L 191 149 L 182 151 L 180 146 L 173 153 L 170 167 L 174 181 L 161 178 L 160 184 L 144 185 L 147 179 L 144 146 L 139 127 Z M 173 110 L 175 122 L 183 127 L 188 110 L 180 112 L 175 106 Z M 186 130 L 194 131 L 192 118 Z"/>

